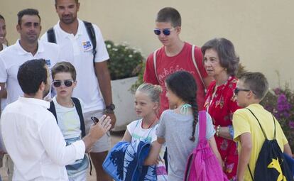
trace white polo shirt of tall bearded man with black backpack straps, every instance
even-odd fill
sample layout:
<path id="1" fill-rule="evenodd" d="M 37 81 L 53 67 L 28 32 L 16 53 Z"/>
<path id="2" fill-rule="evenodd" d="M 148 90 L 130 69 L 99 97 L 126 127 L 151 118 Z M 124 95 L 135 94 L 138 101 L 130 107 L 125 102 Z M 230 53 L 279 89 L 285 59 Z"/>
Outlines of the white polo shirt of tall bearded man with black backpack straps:
<path id="1" fill-rule="evenodd" d="M 71 62 L 77 71 L 77 86 L 72 97 L 79 97 L 85 104 L 85 112 L 104 109 L 104 101 L 100 94 L 99 83 L 93 66 L 93 46 L 83 21 L 78 19 L 77 33 L 67 33 L 60 28 L 60 21 L 53 27 L 56 43 L 60 45 L 61 60 Z M 98 26 L 93 25 L 97 42 L 95 62 L 109 59 L 107 48 Z M 40 40 L 48 41 L 47 33 Z"/>

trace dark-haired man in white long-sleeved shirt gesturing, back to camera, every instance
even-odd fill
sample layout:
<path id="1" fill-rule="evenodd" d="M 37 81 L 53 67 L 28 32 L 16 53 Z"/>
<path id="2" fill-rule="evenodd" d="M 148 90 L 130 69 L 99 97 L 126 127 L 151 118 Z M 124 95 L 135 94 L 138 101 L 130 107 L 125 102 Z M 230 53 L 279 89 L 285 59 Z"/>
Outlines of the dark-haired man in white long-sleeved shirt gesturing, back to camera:
<path id="1" fill-rule="evenodd" d="M 6 106 L 0 131 L 14 165 L 13 180 L 68 180 L 65 165 L 84 158 L 85 151 L 101 138 L 110 120 L 102 116 L 89 134 L 66 146 L 55 117 L 43 101 L 50 89 L 50 71 L 44 59 L 28 60 L 19 67 L 17 80 L 23 97 Z"/>

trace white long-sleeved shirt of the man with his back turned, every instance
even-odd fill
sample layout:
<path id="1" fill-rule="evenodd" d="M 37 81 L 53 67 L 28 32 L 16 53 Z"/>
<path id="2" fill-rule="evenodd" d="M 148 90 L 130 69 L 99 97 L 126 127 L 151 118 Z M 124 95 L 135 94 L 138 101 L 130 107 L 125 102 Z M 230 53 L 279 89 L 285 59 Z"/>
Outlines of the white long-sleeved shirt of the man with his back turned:
<path id="1" fill-rule="evenodd" d="M 65 165 L 84 157 L 84 141 L 66 146 L 49 106 L 40 99 L 19 97 L 1 115 L 1 136 L 14 163 L 13 180 L 68 180 Z"/>

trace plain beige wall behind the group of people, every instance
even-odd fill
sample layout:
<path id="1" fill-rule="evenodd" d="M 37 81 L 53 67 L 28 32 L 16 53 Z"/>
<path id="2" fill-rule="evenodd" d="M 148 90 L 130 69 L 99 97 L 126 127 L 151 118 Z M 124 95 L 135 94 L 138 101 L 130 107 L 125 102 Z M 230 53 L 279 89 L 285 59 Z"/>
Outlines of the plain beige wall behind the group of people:
<path id="1" fill-rule="evenodd" d="M 271 87 L 290 83 L 294 89 L 294 1 L 288 0 L 80 0 L 79 17 L 102 29 L 104 39 L 128 42 L 148 55 L 160 46 L 153 34 L 159 9 L 173 6 L 183 18 L 181 38 L 201 46 L 214 37 L 225 37 L 235 45 L 246 69 L 261 71 Z M 40 11 L 43 31 L 58 21 L 53 0 L 0 0 L 8 38 L 14 43 L 16 13 L 21 9 Z M 294 72 L 294 71 L 293 71 Z"/>

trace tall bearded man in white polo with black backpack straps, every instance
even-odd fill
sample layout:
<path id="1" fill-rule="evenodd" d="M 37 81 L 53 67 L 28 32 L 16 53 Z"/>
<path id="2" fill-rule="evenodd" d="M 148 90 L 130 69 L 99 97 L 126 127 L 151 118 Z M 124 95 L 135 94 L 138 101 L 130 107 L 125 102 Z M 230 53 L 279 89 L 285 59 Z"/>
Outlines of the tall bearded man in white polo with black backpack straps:
<path id="1" fill-rule="evenodd" d="M 94 56 L 93 39 L 90 38 L 85 23 L 77 18 L 80 3 L 78 0 L 55 0 L 55 9 L 60 21 L 53 27 L 55 43 L 60 45 L 62 60 L 75 66 L 77 70 L 77 87 L 73 97 L 79 97 L 85 103 L 86 132 L 92 123 L 91 116 L 107 114 L 111 117 L 111 125 L 116 121 L 114 104 L 112 104 L 111 84 L 107 60 L 109 55 L 99 28 L 92 24 L 97 53 Z M 45 33 L 41 40 L 53 42 Z M 94 66 L 93 66 L 94 65 Z M 96 75 L 95 75 L 96 72 Z M 100 94 L 100 91 L 102 94 Z M 111 180 L 104 172 L 102 163 L 107 156 L 111 143 L 109 134 L 102 137 L 91 150 L 91 158 L 96 170 L 97 180 Z"/>

